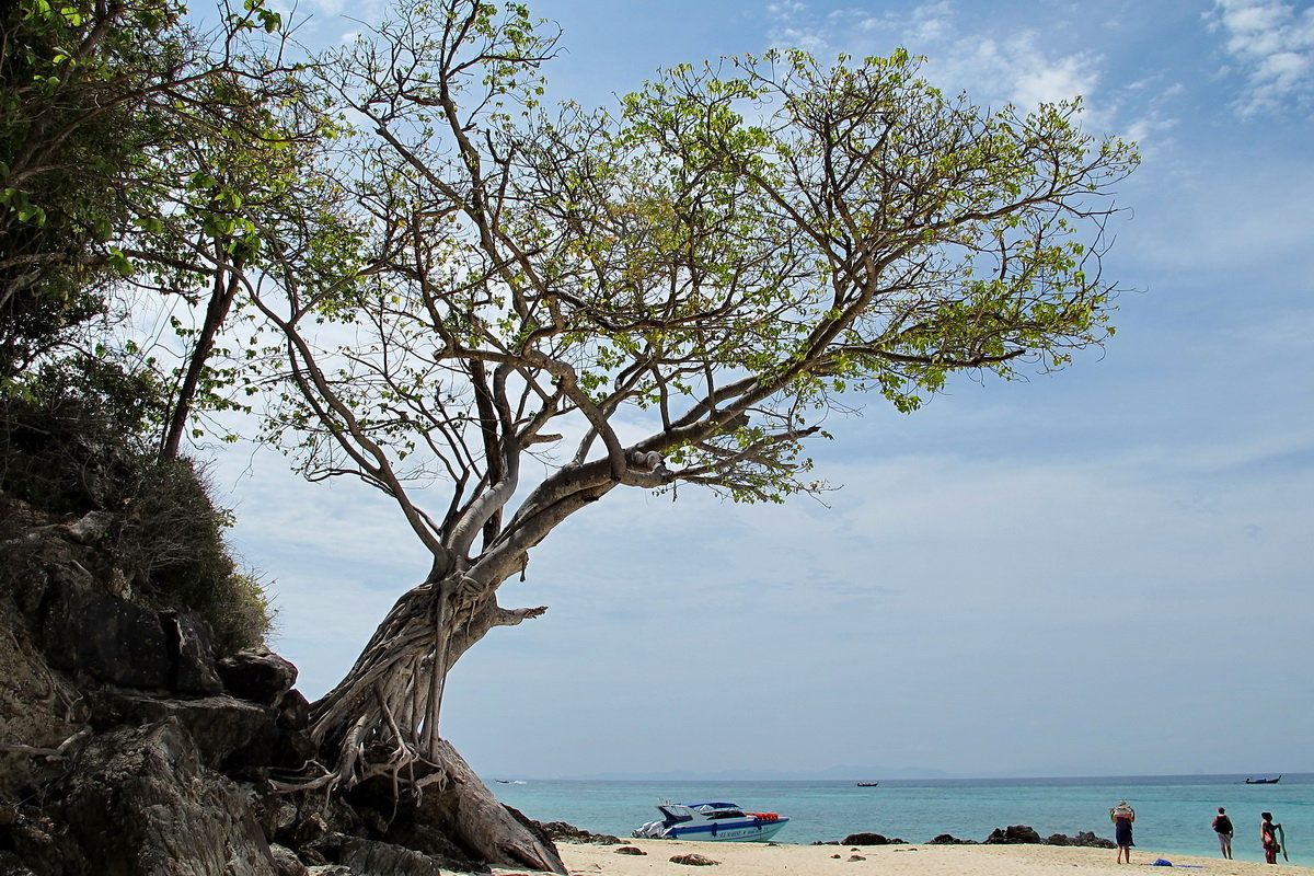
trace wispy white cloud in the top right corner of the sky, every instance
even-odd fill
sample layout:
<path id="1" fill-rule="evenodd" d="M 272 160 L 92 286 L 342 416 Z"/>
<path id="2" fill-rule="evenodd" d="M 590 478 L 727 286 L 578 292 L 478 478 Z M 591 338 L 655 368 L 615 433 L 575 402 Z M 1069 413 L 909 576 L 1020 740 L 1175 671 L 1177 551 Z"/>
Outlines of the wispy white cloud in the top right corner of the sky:
<path id="1" fill-rule="evenodd" d="M 1307 100 L 1314 84 L 1314 8 L 1297 12 L 1280 0 L 1218 0 L 1209 21 L 1246 71 L 1247 91 L 1238 101 L 1243 114 L 1273 112 L 1288 99 Z"/>

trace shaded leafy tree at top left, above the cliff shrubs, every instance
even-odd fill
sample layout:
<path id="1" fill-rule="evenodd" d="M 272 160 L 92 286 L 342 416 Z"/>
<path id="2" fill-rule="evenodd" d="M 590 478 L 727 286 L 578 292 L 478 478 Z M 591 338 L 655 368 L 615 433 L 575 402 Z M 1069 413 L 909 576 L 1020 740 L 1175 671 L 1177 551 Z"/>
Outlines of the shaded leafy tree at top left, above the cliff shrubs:
<path id="1" fill-rule="evenodd" d="M 110 372 L 141 378 L 164 458 L 197 408 L 231 405 L 235 373 L 212 355 L 259 252 L 250 217 L 288 200 L 323 125 L 281 41 L 261 39 L 279 14 L 263 0 L 217 12 L 208 30 L 177 0 L 0 12 L 0 398 L 55 362 L 106 390 Z M 95 324 L 146 322 L 143 299 L 205 302 L 200 327 L 175 318 L 181 341 L 156 360 L 148 338 Z"/>

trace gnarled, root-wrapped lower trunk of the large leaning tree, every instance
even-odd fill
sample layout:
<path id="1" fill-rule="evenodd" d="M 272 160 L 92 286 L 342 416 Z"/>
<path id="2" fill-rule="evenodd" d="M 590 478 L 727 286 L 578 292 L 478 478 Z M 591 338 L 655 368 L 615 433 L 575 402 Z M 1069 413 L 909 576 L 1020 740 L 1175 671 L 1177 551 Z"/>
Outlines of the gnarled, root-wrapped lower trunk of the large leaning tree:
<path id="1" fill-rule="evenodd" d="M 406 592 L 384 619 L 351 672 L 311 705 L 311 738 L 334 768 L 314 785 L 348 789 L 389 776 L 419 795 L 418 817 L 494 865 L 565 873 L 551 842 L 540 841 L 493 796 L 438 734 L 443 684 L 452 665 L 487 632 L 514 616 L 490 588 L 469 590 L 451 574 Z"/>

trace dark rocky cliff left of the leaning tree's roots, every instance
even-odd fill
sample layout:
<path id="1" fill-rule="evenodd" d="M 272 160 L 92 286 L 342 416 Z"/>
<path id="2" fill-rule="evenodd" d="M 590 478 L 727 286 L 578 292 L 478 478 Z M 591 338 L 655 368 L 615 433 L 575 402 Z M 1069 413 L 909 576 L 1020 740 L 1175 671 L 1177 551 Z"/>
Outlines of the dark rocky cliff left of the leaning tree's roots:
<path id="1" fill-rule="evenodd" d="M 134 596 L 113 525 L 0 494 L 0 876 L 486 872 L 432 801 L 288 792 L 314 756 L 296 667 Z"/>

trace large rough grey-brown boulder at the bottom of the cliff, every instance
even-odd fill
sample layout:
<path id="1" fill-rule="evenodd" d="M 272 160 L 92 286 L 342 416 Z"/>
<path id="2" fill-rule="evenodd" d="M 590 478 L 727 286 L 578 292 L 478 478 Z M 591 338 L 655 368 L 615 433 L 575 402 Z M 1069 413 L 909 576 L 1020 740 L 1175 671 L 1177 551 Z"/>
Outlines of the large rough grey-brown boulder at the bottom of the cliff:
<path id="1" fill-rule="evenodd" d="M 276 876 L 246 793 L 173 718 L 92 741 L 59 809 L 102 876 Z"/>

